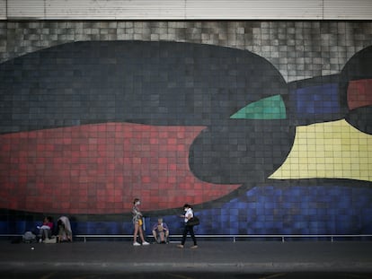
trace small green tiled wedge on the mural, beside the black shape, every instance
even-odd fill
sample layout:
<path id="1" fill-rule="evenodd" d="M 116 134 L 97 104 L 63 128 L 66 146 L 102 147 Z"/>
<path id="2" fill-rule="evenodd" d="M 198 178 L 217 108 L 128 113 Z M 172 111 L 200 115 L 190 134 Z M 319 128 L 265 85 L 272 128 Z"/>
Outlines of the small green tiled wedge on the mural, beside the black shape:
<path id="1" fill-rule="evenodd" d="M 257 100 L 239 109 L 230 118 L 234 119 L 285 119 L 286 106 L 280 95 Z"/>

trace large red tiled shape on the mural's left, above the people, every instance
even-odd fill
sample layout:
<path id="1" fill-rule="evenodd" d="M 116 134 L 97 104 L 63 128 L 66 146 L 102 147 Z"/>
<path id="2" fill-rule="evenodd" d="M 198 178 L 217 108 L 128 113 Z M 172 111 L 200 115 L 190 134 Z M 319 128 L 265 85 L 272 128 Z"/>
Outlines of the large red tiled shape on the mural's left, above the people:
<path id="1" fill-rule="evenodd" d="M 189 148 L 204 126 L 106 123 L 0 136 L 0 207 L 120 214 L 197 205 L 240 185 L 200 181 Z"/>

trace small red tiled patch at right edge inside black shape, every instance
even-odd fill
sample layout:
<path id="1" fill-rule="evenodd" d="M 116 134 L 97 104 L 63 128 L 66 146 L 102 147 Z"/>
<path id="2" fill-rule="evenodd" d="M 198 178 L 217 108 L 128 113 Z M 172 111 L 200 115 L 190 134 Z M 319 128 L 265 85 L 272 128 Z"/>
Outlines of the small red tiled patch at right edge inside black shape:
<path id="1" fill-rule="evenodd" d="M 350 81 L 348 87 L 349 109 L 372 105 L 372 79 Z"/>

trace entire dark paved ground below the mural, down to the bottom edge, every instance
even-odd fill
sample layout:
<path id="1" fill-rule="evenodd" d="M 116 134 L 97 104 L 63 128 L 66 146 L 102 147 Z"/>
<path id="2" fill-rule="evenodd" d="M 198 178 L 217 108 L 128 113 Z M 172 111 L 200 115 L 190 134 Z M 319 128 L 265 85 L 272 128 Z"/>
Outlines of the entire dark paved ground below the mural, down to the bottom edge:
<path id="1" fill-rule="evenodd" d="M 0 242 L 0 279 L 372 279 L 370 241 Z"/>

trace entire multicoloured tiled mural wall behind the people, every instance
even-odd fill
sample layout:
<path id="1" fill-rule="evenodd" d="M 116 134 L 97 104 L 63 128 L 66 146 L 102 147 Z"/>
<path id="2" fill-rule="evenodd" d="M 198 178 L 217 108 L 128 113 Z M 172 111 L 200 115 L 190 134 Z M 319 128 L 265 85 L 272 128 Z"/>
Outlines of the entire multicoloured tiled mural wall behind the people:
<path id="1" fill-rule="evenodd" d="M 0 233 L 372 233 L 372 22 L 0 22 Z M 45 197 L 47 196 L 47 198 Z"/>

